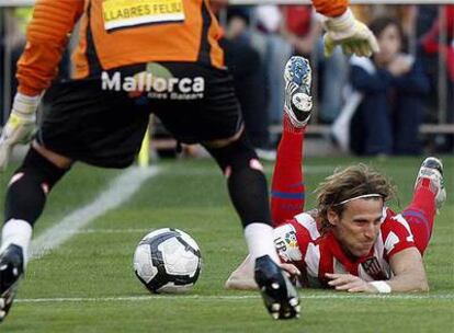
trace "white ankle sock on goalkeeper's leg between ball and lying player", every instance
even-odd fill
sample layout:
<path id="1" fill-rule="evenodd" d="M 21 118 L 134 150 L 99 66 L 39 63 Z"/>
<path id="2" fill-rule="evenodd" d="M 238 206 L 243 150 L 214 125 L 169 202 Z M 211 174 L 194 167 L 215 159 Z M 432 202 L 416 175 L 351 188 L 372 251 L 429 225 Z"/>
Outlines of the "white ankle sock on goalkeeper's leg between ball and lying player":
<path id="1" fill-rule="evenodd" d="M 252 262 L 263 255 L 269 255 L 275 263 L 280 263 L 274 246 L 273 228 L 265 223 L 250 223 L 245 228 L 245 238 Z"/>

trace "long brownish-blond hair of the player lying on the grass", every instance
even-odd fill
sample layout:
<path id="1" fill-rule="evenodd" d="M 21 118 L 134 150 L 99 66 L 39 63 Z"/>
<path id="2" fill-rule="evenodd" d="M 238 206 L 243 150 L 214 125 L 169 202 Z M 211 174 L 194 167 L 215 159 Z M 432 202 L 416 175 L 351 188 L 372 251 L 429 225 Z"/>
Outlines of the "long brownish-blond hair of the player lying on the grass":
<path id="1" fill-rule="evenodd" d="M 319 184 L 317 194 L 318 217 L 321 231 L 326 232 L 331 223 L 328 221 L 328 210 L 339 216 L 345 210 L 345 204 L 351 198 L 372 194 L 371 199 L 382 197 L 384 202 L 395 196 L 395 186 L 388 177 L 378 171 L 360 163 L 343 170 L 337 169 L 334 173 Z"/>

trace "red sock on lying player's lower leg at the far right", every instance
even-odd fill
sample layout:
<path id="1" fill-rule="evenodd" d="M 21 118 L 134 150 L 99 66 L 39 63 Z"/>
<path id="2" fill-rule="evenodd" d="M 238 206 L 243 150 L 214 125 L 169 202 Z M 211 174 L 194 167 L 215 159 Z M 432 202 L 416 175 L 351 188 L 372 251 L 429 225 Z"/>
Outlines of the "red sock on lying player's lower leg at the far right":
<path id="1" fill-rule="evenodd" d="M 415 237 L 415 244 L 421 255 L 429 245 L 435 218 L 435 195 L 430 179 L 422 179 L 413 193 L 411 204 L 402 211 L 402 216 L 410 225 Z"/>

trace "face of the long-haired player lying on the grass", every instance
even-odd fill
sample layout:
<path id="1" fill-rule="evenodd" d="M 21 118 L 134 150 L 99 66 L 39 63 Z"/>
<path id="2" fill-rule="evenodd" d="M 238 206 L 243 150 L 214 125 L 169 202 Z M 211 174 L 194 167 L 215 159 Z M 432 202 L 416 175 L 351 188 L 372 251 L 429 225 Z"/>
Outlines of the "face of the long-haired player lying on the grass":
<path id="1" fill-rule="evenodd" d="M 366 255 L 378 237 L 383 199 L 356 199 L 345 205 L 341 217 L 334 211 L 328 214 L 332 232 L 350 255 Z"/>

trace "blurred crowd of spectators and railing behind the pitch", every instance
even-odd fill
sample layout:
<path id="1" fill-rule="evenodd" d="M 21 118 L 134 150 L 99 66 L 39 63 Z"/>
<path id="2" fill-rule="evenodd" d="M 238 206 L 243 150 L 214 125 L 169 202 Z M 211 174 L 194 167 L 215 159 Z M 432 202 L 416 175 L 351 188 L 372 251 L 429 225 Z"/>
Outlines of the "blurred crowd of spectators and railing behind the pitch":
<path id="1" fill-rule="evenodd" d="M 340 50 L 324 57 L 320 18 L 309 1 L 212 0 L 224 27 L 222 45 L 246 129 L 259 156 L 275 157 L 284 101 L 282 73 L 293 55 L 309 58 L 314 72 L 315 112 L 306 153 L 453 153 L 454 4 L 450 2 L 352 0 L 354 14 L 373 30 L 381 45 L 379 54 L 365 59 L 345 57 Z M 33 3 L 0 0 L 1 125 L 15 93 L 15 62 Z M 59 79 L 70 76 L 69 54 Z M 159 119 L 151 123 L 154 151 L 173 151 L 175 142 Z M 197 147 L 184 151 L 203 156 Z"/>

